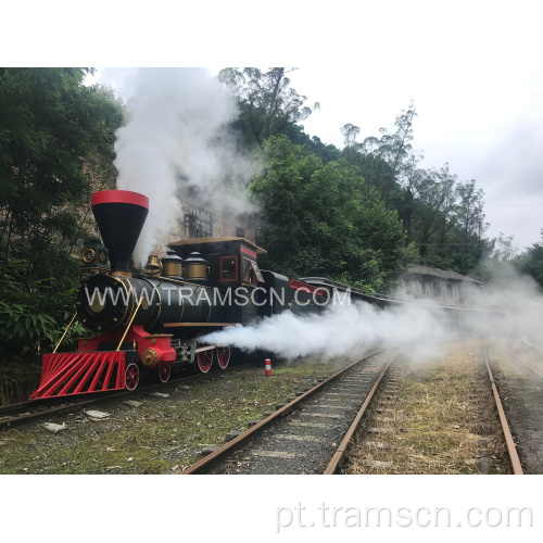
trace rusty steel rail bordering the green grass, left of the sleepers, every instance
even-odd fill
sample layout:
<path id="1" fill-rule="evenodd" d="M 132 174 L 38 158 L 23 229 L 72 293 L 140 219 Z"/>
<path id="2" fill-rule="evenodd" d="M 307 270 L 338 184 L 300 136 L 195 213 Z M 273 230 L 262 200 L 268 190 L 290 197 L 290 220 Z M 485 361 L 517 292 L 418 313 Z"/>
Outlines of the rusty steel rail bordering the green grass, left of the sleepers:
<path id="1" fill-rule="evenodd" d="M 260 433 L 262 430 L 265 428 L 272 426 L 276 420 L 278 420 L 280 417 L 286 415 L 289 411 L 291 411 L 293 407 L 296 405 L 301 404 L 304 400 L 307 397 L 312 396 L 315 394 L 317 391 L 319 391 L 323 387 L 326 387 L 329 384 L 331 381 L 337 379 L 338 377 L 342 376 L 356 365 L 369 361 L 374 356 L 380 354 L 382 351 L 374 352 L 371 354 L 368 354 L 361 358 L 359 361 L 353 362 L 353 364 L 350 364 L 343 369 L 340 369 L 332 376 L 328 377 L 324 381 L 319 382 L 312 389 L 305 391 L 303 394 L 300 396 L 295 397 L 292 400 L 292 402 L 289 402 L 287 405 L 282 406 L 281 408 L 277 409 L 274 412 L 272 415 L 268 417 L 262 419 L 260 422 L 256 425 L 252 426 L 251 428 L 247 429 L 245 431 L 241 432 L 239 435 L 233 438 L 232 440 L 228 441 L 224 445 L 219 446 L 213 453 L 209 454 L 207 456 L 204 456 L 202 459 L 198 460 L 197 463 L 192 464 L 191 466 L 187 467 L 179 475 L 194 475 L 194 473 L 203 473 L 207 468 L 210 468 L 213 464 L 216 464 L 217 462 L 220 460 L 220 458 L 226 457 L 228 454 L 233 452 L 241 443 L 249 441 L 251 438 L 255 437 L 257 433 Z"/>

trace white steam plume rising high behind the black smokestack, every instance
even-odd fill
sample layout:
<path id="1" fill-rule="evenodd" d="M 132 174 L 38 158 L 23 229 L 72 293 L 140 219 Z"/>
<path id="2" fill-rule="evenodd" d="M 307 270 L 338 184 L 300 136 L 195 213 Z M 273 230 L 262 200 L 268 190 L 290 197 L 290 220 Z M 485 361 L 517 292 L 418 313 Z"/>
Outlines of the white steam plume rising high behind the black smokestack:
<path id="1" fill-rule="evenodd" d="M 134 252 L 135 263 L 144 266 L 182 216 L 179 194 L 195 188 L 211 211 L 252 211 L 241 194 L 253 172 L 226 128 L 237 104 L 206 70 L 140 68 L 124 85 L 129 122 L 115 134 L 114 164 L 117 188 L 150 200 Z"/>

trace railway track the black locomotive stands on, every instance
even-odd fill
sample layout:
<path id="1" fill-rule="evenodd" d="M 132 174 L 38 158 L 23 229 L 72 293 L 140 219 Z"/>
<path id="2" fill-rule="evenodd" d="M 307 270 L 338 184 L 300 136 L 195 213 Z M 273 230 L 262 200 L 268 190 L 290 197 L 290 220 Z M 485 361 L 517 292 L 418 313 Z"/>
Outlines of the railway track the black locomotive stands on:
<path id="1" fill-rule="evenodd" d="M 252 364 L 236 365 L 228 368 L 228 370 L 241 370 L 248 366 L 252 366 Z M 3 429 L 11 429 L 28 422 L 40 420 L 51 415 L 71 413 L 74 409 L 99 405 L 105 402 L 137 400 L 141 395 L 149 394 L 151 392 L 167 393 L 167 391 L 173 386 L 188 384 L 190 382 L 205 380 L 207 378 L 214 377 L 216 374 L 222 374 L 223 371 L 223 369 L 216 368 L 206 374 L 197 374 L 187 377 L 174 378 L 171 379 L 167 383 L 160 382 L 148 384 L 144 387 L 140 387 L 135 391 L 127 390 L 123 392 L 98 392 L 96 394 L 89 394 L 89 396 L 91 396 L 90 399 L 88 399 L 87 396 L 75 396 L 73 400 L 66 397 L 31 400 L 27 402 L 7 405 L 4 407 L 0 407 L 0 431 Z"/>

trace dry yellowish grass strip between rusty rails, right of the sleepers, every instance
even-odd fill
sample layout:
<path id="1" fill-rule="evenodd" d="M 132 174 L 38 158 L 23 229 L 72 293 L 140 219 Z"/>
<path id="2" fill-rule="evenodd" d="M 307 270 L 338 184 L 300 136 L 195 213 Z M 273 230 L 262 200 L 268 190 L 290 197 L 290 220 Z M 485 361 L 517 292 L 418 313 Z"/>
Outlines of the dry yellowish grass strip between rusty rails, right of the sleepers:
<path id="1" fill-rule="evenodd" d="M 475 343 L 431 364 L 399 364 L 397 399 L 374 407 L 350 453 L 349 473 L 505 472 L 505 450 Z M 382 394 L 381 394 L 382 395 Z M 388 407 L 382 413 L 376 409 Z M 384 419 L 384 420 L 383 420 Z M 371 435 L 369 428 L 388 428 Z M 368 444 L 380 442 L 382 447 Z M 390 465 L 375 463 L 386 462 Z"/>

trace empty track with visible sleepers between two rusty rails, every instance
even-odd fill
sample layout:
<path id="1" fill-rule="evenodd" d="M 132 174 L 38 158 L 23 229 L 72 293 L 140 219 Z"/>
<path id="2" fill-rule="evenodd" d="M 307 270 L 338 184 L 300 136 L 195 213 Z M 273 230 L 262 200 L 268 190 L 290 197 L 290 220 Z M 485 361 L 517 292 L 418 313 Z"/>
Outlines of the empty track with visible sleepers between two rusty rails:
<path id="1" fill-rule="evenodd" d="M 394 359 L 391 352 L 379 352 L 353 363 L 182 475 L 333 472 Z"/>

